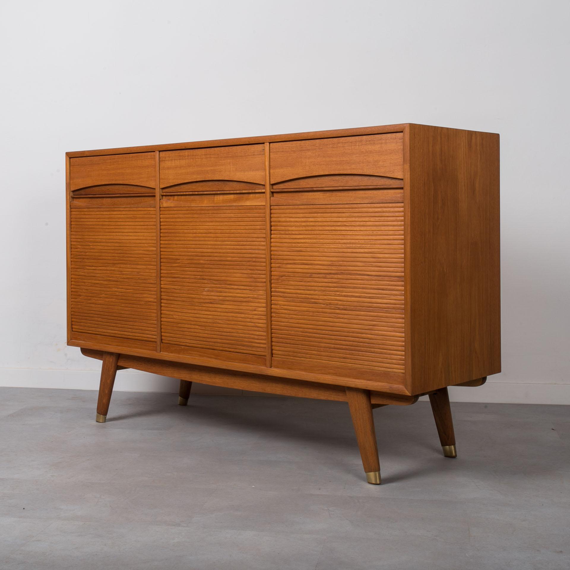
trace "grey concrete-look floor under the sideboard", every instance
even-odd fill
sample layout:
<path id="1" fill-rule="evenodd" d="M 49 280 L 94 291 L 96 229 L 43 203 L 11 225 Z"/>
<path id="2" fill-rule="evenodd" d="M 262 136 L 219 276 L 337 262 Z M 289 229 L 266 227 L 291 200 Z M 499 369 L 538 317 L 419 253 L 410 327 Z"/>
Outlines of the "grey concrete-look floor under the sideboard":
<path id="1" fill-rule="evenodd" d="M 374 411 L 382 486 L 347 406 L 0 388 L 0 568 L 570 568 L 570 410 Z"/>

